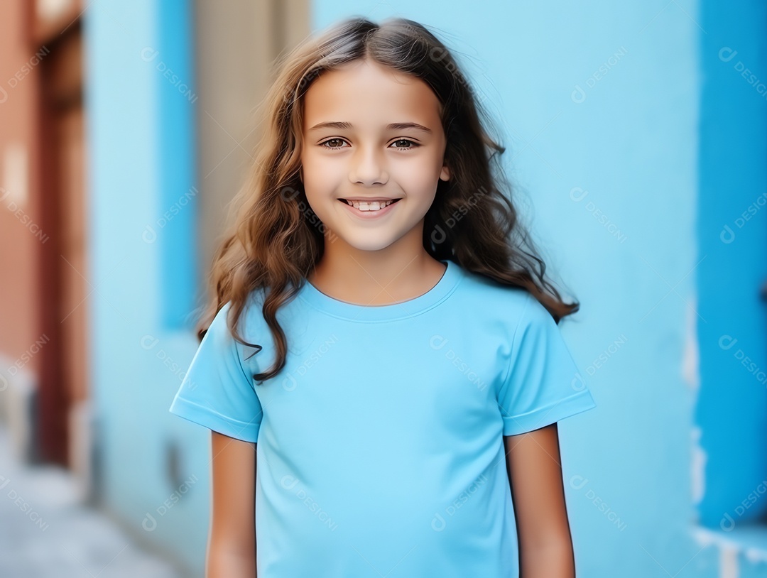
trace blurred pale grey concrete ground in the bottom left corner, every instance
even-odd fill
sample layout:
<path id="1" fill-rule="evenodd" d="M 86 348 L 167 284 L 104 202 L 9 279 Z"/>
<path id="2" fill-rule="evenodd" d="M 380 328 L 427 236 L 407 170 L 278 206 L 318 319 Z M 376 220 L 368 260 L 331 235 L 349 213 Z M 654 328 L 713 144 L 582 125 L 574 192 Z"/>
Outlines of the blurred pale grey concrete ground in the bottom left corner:
<path id="1" fill-rule="evenodd" d="M 0 423 L 0 576 L 181 575 L 169 561 L 135 546 L 109 517 L 78 503 L 66 470 L 19 463 Z"/>

